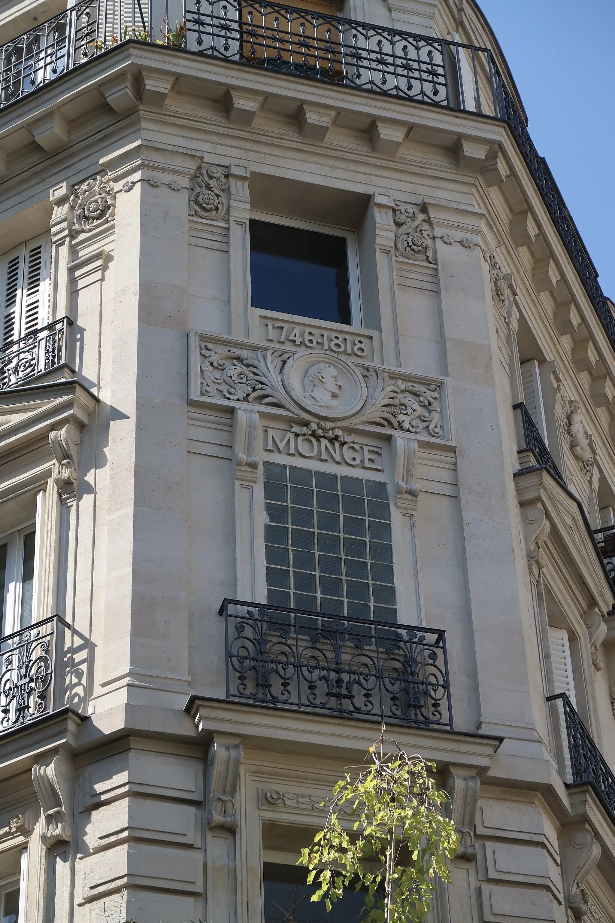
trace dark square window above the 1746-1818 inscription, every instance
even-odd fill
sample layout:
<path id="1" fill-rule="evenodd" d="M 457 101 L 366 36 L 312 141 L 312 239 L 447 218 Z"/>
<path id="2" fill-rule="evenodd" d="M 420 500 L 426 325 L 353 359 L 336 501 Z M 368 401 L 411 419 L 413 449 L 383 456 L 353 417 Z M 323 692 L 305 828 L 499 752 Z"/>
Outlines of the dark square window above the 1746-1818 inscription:
<path id="1" fill-rule="evenodd" d="M 250 273 L 252 306 L 258 310 L 337 324 L 352 324 L 354 313 L 355 326 L 361 326 L 351 233 L 321 234 L 252 220 Z"/>

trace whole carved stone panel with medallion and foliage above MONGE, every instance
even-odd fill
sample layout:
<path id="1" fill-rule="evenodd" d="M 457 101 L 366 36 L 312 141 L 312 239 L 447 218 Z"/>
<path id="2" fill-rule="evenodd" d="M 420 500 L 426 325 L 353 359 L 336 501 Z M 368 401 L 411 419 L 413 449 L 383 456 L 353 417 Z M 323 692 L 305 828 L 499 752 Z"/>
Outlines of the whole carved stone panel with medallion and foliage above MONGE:
<path id="1" fill-rule="evenodd" d="M 198 351 L 204 397 L 282 408 L 323 432 L 332 431 L 334 421 L 443 435 L 439 385 L 390 378 L 324 351 L 247 350 L 203 341 Z"/>

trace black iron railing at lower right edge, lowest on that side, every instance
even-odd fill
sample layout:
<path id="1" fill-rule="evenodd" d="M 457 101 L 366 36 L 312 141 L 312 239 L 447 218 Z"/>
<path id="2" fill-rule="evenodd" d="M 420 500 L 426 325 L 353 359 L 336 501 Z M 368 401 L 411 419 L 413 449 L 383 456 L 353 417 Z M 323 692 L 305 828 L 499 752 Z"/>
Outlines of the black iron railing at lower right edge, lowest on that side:
<path id="1" fill-rule="evenodd" d="M 557 703 L 563 711 L 566 740 L 562 743 L 568 748 L 570 762 L 566 768 L 572 774 L 572 782 L 568 784 L 591 785 L 615 823 L 615 773 L 597 749 L 568 696 L 561 692 L 550 696 L 547 701 Z"/>

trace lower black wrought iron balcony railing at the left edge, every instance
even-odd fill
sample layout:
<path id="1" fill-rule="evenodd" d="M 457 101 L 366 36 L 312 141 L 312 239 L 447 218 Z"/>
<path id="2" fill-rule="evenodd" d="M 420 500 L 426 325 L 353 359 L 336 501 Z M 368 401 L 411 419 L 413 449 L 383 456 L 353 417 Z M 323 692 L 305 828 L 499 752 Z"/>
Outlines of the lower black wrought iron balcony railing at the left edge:
<path id="1" fill-rule="evenodd" d="M 82 712 L 88 641 L 53 616 L 0 639 L 0 732 L 70 705 Z"/>

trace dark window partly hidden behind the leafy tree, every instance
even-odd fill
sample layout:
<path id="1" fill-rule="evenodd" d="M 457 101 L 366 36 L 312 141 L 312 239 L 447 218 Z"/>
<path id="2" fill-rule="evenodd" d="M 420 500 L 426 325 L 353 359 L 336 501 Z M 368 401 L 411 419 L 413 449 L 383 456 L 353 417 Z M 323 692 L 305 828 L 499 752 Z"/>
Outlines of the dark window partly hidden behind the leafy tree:
<path id="1" fill-rule="evenodd" d="M 360 923 L 364 916 L 365 891 L 345 888 L 330 913 L 325 901 L 313 904 L 318 888 L 306 883 L 307 869 L 264 862 L 263 879 L 265 923 Z"/>

